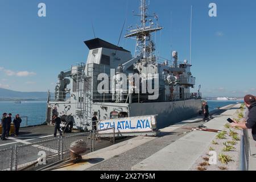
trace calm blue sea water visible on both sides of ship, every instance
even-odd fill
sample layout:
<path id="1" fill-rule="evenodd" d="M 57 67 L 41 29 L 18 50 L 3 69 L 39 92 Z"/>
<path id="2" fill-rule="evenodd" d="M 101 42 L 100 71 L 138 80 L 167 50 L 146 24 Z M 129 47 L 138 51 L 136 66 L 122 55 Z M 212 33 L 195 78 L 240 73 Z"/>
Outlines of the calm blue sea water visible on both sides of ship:
<path id="1" fill-rule="evenodd" d="M 242 101 L 208 101 L 209 110 L 218 107 L 236 104 Z M 20 114 L 21 117 L 28 117 L 28 126 L 40 125 L 46 121 L 46 101 L 22 101 L 22 104 L 15 104 L 14 101 L 0 101 L 0 114 L 12 113 L 13 117 Z M 26 125 L 26 118 L 22 118 L 22 126 Z"/>

